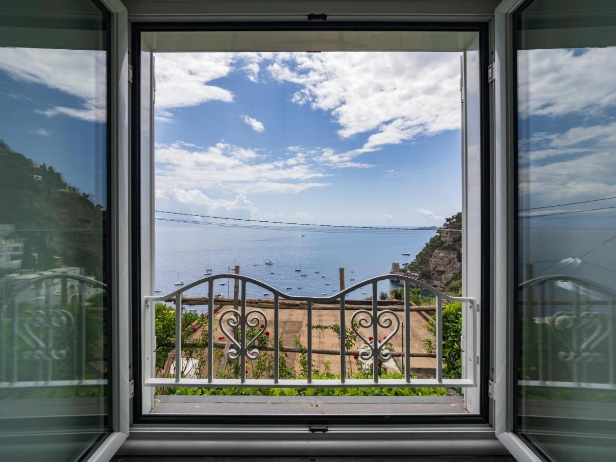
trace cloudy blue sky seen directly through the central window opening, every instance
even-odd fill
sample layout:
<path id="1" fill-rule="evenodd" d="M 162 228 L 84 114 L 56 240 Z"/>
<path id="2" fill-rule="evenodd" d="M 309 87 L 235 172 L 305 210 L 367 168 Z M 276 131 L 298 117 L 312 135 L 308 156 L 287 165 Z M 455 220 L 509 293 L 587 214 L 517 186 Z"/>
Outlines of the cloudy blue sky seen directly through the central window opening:
<path id="1" fill-rule="evenodd" d="M 459 53 L 156 54 L 156 208 L 441 225 L 461 209 L 459 63 Z"/>

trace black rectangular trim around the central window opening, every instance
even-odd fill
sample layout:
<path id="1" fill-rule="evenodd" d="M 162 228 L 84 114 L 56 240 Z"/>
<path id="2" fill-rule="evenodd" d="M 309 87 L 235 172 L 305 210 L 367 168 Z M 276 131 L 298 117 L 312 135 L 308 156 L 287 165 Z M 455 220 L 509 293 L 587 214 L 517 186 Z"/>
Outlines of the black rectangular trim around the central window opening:
<path id="1" fill-rule="evenodd" d="M 490 306 L 492 286 L 490 284 L 490 104 L 488 88 L 488 22 L 132 22 L 131 23 L 131 65 L 133 84 L 131 95 L 131 246 L 132 246 L 132 368 L 135 395 L 132 400 L 132 422 L 135 424 L 357 424 L 355 415 L 154 415 L 141 411 L 141 340 L 140 306 L 140 44 L 144 31 L 259 31 L 259 30 L 382 30 L 382 31 L 474 31 L 479 33 L 479 76 L 480 76 L 480 122 L 481 122 L 481 285 L 483 309 L 480 324 L 481 381 L 479 383 L 479 415 L 372 415 L 362 416 L 362 424 L 486 424 L 489 421 L 490 405 L 487 383 L 490 373 Z M 137 212 L 137 213 L 135 213 Z"/>

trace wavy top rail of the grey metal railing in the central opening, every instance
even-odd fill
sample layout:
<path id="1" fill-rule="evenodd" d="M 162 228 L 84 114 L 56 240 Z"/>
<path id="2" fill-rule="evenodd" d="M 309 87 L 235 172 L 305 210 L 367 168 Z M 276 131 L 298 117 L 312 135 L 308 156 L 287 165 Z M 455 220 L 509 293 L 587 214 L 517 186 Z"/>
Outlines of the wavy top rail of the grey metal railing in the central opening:
<path id="1" fill-rule="evenodd" d="M 376 276 L 373 278 L 369 278 L 366 280 L 363 280 L 361 282 L 355 283 L 352 286 L 347 287 L 344 290 L 339 291 L 338 293 L 332 294 L 330 296 L 325 296 L 325 297 L 316 297 L 316 296 L 301 296 L 301 295 L 290 295 L 290 294 L 286 294 L 283 291 L 278 290 L 277 288 L 275 288 L 274 286 L 270 286 L 269 284 L 259 281 L 257 279 L 251 278 L 249 276 L 245 276 L 245 275 L 241 275 L 241 274 L 214 274 L 202 279 L 199 279 L 195 282 L 192 282 L 188 285 L 184 285 L 181 288 L 172 291 L 171 293 L 168 293 L 166 295 L 161 295 L 161 296 L 151 296 L 151 295 L 147 295 L 145 296 L 145 299 L 149 300 L 149 301 L 164 301 L 164 300 L 168 300 L 170 298 L 175 298 L 176 296 L 178 296 L 179 294 L 184 293 L 187 290 L 192 289 L 193 287 L 197 287 L 200 286 L 201 284 L 205 284 L 208 283 L 210 281 L 214 281 L 217 279 L 237 279 L 240 281 L 243 281 L 245 283 L 252 283 L 256 286 L 262 287 L 264 289 L 269 290 L 272 294 L 274 294 L 274 296 L 278 296 L 280 298 L 283 298 L 285 300 L 291 300 L 291 301 L 310 301 L 310 302 L 316 302 L 316 303 L 328 303 L 328 302 L 333 302 L 339 298 L 341 298 L 342 296 L 345 296 L 346 294 L 351 293 L 354 290 L 357 290 L 365 285 L 368 284 L 372 284 L 372 283 L 376 283 L 379 281 L 383 281 L 383 280 L 391 280 L 391 279 L 395 279 L 395 280 L 403 280 L 403 281 L 407 281 L 409 283 L 412 283 L 415 286 L 419 286 L 420 288 L 423 288 L 425 290 L 429 290 L 432 293 L 434 293 L 436 296 L 439 296 L 445 300 L 448 300 L 450 302 L 468 302 L 471 304 L 474 304 L 475 299 L 473 297 L 455 297 L 452 295 L 448 295 L 440 290 L 438 290 L 437 288 L 432 287 L 429 284 L 426 284 L 425 282 L 421 282 L 418 279 L 415 278 L 411 278 L 410 276 L 405 276 L 405 275 L 392 275 L 392 274 L 384 274 L 381 276 Z"/>

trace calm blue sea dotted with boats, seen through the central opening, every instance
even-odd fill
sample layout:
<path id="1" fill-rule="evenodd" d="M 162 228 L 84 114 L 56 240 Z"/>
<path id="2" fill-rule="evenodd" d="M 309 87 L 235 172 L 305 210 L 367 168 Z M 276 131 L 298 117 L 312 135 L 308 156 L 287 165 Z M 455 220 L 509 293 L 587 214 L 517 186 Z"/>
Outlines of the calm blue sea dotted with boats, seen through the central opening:
<path id="1" fill-rule="evenodd" d="M 371 277 L 389 274 L 392 262 L 410 262 L 421 251 L 434 230 L 405 232 L 365 232 L 353 229 L 310 231 L 305 229 L 270 230 L 203 225 L 156 225 L 155 285 L 160 295 L 179 286 L 213 274 L 233 272 L 278 288 L 283 293 L 324 296 L 339 291 L 339 268 L 344 268 L 345 286 Z M 303 236 L 302 236 L 303 235 Z M 403 256 L 402 253 L 410 253 Z M 272 261 L 272 265 L 266 265 Z M 301 271 L 296 271 L 301 269 Z M 302 274 L 306 274 L 302 277 Z M 399 286 L 384 280 L 378 291 L 389 292 Z M 184 296 L 207 295 L 207 284 L 188 290 Z M 217 280 L 214 293 L 233 296 L 233 280 Z M 272 296 L 263 288 L 248 284 L 250 297 Z M 267 294 L 267 295 L 266 295 Z M 347 296 L 364 299 L 371 296 L 370 285 Z"/>

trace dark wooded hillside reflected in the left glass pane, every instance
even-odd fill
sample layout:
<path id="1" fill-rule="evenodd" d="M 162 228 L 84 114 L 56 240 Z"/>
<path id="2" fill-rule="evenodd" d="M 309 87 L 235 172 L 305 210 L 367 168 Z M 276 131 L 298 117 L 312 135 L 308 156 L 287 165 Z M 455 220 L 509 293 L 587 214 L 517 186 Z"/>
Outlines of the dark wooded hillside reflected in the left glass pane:
<path id="1" fill-rule="evenodd" d="M 0 224 L 14 225 L 15 237 L 24 240 L 21 269 L 51 269 L 61 257 L 63 264 L 103 280 L 102 206 L 67 184 L 51 165 L 26 158 L 2 140 L 0 165 L 0 203 L 5 205 Z"/>

